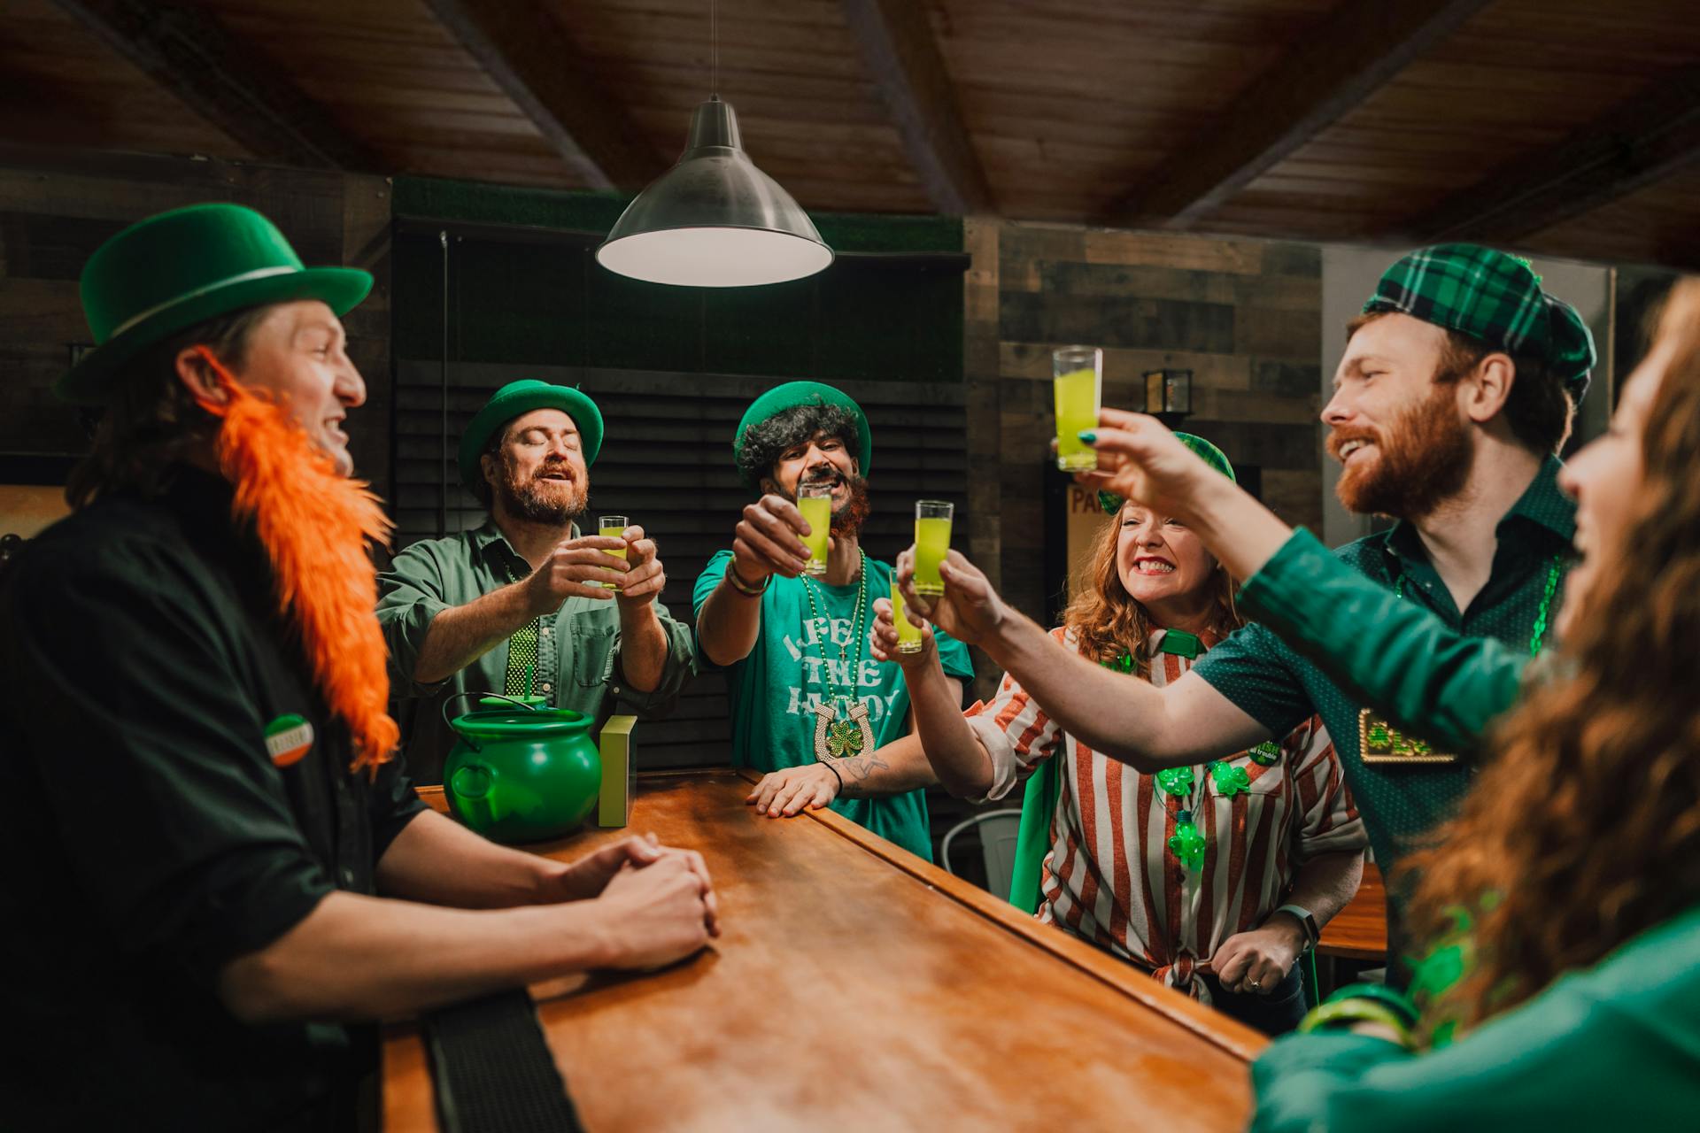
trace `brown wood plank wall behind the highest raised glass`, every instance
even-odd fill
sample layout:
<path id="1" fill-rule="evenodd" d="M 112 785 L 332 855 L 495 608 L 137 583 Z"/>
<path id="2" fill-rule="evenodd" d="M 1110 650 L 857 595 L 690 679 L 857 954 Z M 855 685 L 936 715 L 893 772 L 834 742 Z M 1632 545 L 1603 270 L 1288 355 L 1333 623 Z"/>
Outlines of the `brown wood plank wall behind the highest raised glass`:
<path id="1" fill-rule="evenodd" d="M 1105 403 L 1142 401 L 1148 369 L 1193 372 L 1183 425 L 1236 464 L 1261 469 L 1263 498 L 1292 523 L 1321 525 L 1321 251 L 1314 245 L 1202 240 L 1076 226 L 974 221 L 966 233 L 966 369 L 976 554 L 1003 595 L 1042 618 L 1044 477 L 1056 430 L 1051 350 L 1103 347 Z M 993 267 L 994 265 L 994 267 Z M 981 474 L 1000 454 L 996 482 Z M 988 564 L 989 566 L 989 564 Z"/>

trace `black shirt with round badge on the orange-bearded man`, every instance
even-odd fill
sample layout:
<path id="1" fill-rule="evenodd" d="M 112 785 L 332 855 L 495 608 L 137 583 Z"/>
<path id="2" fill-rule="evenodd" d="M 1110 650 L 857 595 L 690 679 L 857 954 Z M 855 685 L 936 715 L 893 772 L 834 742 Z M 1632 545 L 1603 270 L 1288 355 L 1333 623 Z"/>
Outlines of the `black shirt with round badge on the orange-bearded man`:
<path id="1" fill-rule="evenodd" d="M 0 579 L 7 1128 L 347 1128 L 376 1067 L 371 1026 L 246 1026 L 216 994 L 333 888 L 374 892 L 422 809 L 394 761 L 350 773 L 230 499 L 180 471 Z M 313 744 L 277 766 L 291 715 Z"/>

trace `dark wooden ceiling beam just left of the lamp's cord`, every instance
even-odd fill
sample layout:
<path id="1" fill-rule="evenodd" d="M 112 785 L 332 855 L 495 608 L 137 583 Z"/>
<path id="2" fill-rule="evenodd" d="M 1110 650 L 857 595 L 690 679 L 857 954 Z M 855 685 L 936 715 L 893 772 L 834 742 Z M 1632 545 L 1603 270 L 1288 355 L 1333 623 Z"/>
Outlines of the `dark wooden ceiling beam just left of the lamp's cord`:
<path id="1" fill-rule="evenodd" d="M 590 189 L 643 189 L 668 163 L 590 75 L 551 5 L 425 0 L 437 20 Z M 680 138 L 685 122 L 680 124 Z"/>

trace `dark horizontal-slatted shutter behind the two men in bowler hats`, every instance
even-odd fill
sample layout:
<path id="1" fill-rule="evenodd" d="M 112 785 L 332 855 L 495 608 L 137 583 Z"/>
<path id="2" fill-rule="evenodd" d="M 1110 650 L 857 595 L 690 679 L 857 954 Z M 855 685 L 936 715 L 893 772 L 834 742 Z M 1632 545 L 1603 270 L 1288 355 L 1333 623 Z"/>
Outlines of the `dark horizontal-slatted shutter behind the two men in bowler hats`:
<path id="1" fill-rule="evenodd" d="M 437 535 L 442 499 L 442 404 L 447 377 L 450 462 L 454 445 L 490 394 L 518 377 L 578 386 L 602 409 L 602 454 L 590 472 L 590 515 L 615 513 L 644 527 L 661 549 L 661 601 L 694 623 L 692 586 L 714 552 L 731 545 L 751 499 L 731 460 L 733 431 L 748 404 L 784 379 L 593 367 L 400 362 L 396 367 L 398 545 Z M 913 537 L 913 501 L 967 504 L 967 423 L 954 382 L 835 382 L 855 397 L 874 435 L 869 476 L 874 513 L 867 554 L 891 561 Z M 449 471 L 449 530 L 478 527 L 484 511 Z M 638 730 L 644 768 L 731 761 L 726 679 L 704 671 L 666 720 Z"/>

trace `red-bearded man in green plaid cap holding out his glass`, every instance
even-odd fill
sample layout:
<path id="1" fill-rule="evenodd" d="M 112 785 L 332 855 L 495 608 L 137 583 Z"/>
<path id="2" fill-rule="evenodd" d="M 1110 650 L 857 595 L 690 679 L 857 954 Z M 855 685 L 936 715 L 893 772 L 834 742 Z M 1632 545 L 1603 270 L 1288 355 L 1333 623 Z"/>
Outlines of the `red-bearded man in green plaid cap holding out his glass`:
<path id="1" fill-rule="evenodd" d="M 1394 263 L 1346 333 L 1334 397 L 1323 411 L 1328 450 L 1345 465 L 1340 498 L 1353 511 L 1399 521 L 1340 549 L 1340 559 L 1459 634 L 1523 652 L 1550 644 L 1547 622 L 1574 533 L 1554 454 L 1593 365 L 1586 324 L 1540 289 L 1525 262 L 1445 245 Z M 1127 437 L 1149 430 L 1159 426 L 1107 411 L 1100 443 L 1107 454 L 1122 445 L 1137 452 Z M 1173 442 L 1168 452 L 1202 467 Z M 1185 469 L 1180 481 L 1166 481 L 1159 465 L 1124 467 L 1115 455 L 1107 467 L 1114 477 L 1100 474 L 1100 486 L 1114 479 L 1120 491 L 1180 516 L 1195 513 L 1195 499 L 1207 494 L 1200 488 L 1188 499 L 1175 491 L 1188 482 Z M 1198 472 L 1192 482 L 1221 484 L 1221 477 Z M 1222 545 L 1239 535 L 1219 530 L 1205 542 L 1232 564 Z M 1287 588 L 1307 583 L 1302 566 L 1280 579 Z M 1187 678 L 1156 690 L 1049 649 L 1039 627 L 989 591 L 945 603 L 940 623 L 981 644 L 1064 729 L 1141 771 L 1251 746 L 1319 713 L 1384 870 L 1447 819 L 1469 788 L 1467 744 L 1396 727 L 1261 625 L 1234 634 Z M 1363 627 L 1341 622 L 1336 632 Z M 1397 936 L 1392 948 L 1397 953 Z"/>

